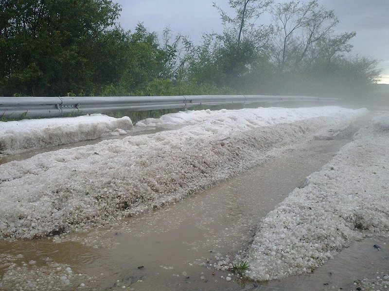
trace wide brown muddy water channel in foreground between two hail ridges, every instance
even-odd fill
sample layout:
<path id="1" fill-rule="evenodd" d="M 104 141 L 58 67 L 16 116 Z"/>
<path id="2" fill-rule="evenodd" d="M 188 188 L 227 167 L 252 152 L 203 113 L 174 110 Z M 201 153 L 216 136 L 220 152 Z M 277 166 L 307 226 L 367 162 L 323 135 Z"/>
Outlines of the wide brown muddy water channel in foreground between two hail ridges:
<path id="1" fill-rule="evenodd" d="M 61 243 L 0 242 L 0 253 L 23 254 L 24 261 L 33 259 L 38 265 L 44 265 L 45 258 L 69 264 L 74 272 L 94 277 L 85 282 L 90 290 L 291 290 L 293 286 L 296 290 L 321 290 L 318 288 L 328 283 L 326 274 L 339 272 L 323 269 L 314 283 L 312 277 L 301 276 L 267 285 L 241 286 L 227 282 L 224 278 L 228 272 L 217 271 L 210 264 L 239 253 L 252 238 L 253 226 L 349 142 L 354 130 L 345 130 L 335 140 L 291 147 L 261 166 L 201 194 L 129 218 L 111 229 L 72 234 L 67 236 L 68 242 Z M 354 268 L 365 271 L 352 261 L 353 253 L 345 254 Z M 339 264 L 344 261 L 340 259 Z M 331 268 L 335 270 L 334 262 Z M 341 272 L 343 267 L 338 269 Z M 0 277 L 2 272 L 0 266 Z"/>

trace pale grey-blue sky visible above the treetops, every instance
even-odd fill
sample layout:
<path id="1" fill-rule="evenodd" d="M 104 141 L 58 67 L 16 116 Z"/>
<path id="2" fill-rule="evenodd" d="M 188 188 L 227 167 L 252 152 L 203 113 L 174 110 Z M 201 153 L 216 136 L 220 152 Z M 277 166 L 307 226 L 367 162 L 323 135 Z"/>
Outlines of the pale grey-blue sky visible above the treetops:
<path id="1" fill-rule="evenodd" d="M 222 26 L 212 2 L 228 9 L 228 0 L 116 0 L 123 11 L 119 21 L 133 30 L 143 22 L 150 31 L 161 33 L 169 26 L 198 43 L 204 32 L 221 32 Z M 280 2 L 282 0 L 278 0 Z M 340 23 L 337 32 L 356 32 L 353 54 L 381 60 L 382 81 L 389 83 L 389 0 L 319 0 L 335 10 Z M 263 21 L 268 18 L 264 16 Z"/>

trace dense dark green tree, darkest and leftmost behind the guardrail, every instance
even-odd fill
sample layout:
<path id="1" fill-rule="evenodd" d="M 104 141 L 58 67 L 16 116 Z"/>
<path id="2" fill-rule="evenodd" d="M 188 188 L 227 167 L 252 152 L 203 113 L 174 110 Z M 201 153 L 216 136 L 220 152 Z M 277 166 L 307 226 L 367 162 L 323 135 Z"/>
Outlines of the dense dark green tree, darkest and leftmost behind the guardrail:
<path id="1" fill-rule="evenodd" d="M 0 0 L 0 95 L 92 91 L 102 73 L 120 6 L 110 0 Z M 107 58 L 107 57 L 106 57 Z M 111 68 L 111 71 L 114 71 Z M 108 77 L 107 79 L 105 77 Z"/>

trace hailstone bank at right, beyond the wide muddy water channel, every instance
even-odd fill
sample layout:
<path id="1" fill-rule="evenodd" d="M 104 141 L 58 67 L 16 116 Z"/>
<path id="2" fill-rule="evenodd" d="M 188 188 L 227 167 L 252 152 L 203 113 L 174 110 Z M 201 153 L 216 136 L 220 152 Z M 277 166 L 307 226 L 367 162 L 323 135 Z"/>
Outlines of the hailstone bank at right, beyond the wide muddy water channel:
<path id="1" fill-rule="evenodd" d="M 388 133 L 389 114 L 375 117 L 259 223 L 249 277 L 310 273 L 355 240 L 388 234 Z"/>

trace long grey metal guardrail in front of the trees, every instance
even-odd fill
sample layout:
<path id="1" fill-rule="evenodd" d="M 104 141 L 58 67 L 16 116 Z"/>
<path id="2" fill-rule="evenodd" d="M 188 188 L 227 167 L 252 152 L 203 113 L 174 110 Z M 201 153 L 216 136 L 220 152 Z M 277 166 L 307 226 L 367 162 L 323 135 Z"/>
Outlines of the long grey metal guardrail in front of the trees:
<path id="1" fill-rule="evenodd" d="M 158 97 L 0 97 L 0 117 L 16 118 L 81 115 L 117 111 L 190 108 L 198 105 L 252 104 L 259 102 L 336 102 L 337 98 L 266 95 L 198 95 Z"/>

